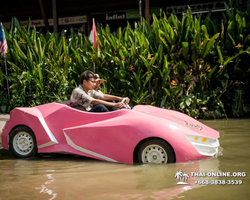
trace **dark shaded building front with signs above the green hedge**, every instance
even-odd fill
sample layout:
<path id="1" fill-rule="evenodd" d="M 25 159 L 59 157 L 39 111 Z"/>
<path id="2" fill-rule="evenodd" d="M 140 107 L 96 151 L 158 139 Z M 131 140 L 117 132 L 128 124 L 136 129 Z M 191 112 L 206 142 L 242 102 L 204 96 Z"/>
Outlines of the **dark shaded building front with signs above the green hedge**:
<path id="1" fill-rule="evenodd" d="M 28 18 L 32 24 L 43 30 L 60 31 L 73 27 L 77 31 L 88 34 L 92 26 L 92 19 L 111 30 L 124 27 L 127 22 L 132 25 L 134 21 L 140 23 L 140 16 L 148 22 L 151 14 L 160 15 L 160 10 L 167 15 L 173 11 L 182 15 L 189 5 L 194 14 L 224 11 L 224 2 L 215 0 L 8 0 L 1 2 L 0 21 L 6 28 L 12 17 L 16 17 L 21 26 L 27 24 Z M 247 0 L 238 0 L 245 5 Z M 236 2 L 233 1 L 233 6 Z"/>

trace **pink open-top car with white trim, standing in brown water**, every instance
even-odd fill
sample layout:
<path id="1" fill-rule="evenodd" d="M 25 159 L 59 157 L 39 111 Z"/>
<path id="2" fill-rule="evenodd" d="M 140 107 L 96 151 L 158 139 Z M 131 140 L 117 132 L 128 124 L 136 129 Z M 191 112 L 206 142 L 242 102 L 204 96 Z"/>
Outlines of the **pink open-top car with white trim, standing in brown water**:
<path id="1" fill-rule="evenodd" d="M 2 146 L 18 158 L 71 153 L 118 163 L 195 161 L 218 153 L 219 133 L 177 111 L 148 105 L 90 113 L 61 103 L 15 108 Z"/>

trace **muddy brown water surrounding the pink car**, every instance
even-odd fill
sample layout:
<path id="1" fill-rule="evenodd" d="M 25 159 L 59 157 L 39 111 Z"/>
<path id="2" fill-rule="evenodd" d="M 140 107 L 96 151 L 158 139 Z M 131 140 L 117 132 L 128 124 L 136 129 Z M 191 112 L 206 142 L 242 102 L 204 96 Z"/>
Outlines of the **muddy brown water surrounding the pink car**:
<path id="1" fill-rule="evenodd" d="M 20 160 L 0 148 L 0 200 L 249 200 L 250 119 L 202 122 L 220 132 L 219 156 L 183 164 L 131 166 L 56 154 Z M 178 170 L 189 175 L 188 184 L 177 184 Z"/>

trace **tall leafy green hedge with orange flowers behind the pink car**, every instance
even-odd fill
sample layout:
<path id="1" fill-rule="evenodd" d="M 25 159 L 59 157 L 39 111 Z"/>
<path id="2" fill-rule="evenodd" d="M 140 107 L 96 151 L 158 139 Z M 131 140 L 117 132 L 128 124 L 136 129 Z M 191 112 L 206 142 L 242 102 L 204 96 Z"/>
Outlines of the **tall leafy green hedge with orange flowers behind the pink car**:
<path id="1" fill-rule="evenodd" d="M 30 23 L 20 28 L 13 18 L 5 32 L 10 76 L 0 61 L 2 88 L 5 79 L 11 83 L 10 102 L 0 100 L 2 112 L 68 100 L 80 73 L 95 63 L 107 80 L 104 92 L 129 96 L 133 105 L 179 110 L 195 118 L 248 115 L 250 12 L 225 6 L 219 24 L 189 9 L 181 20 L 163 13 L 153 16 L 151 25 L 143 20 L 134 29 L 128 24 L 113 33 L 98 26 L 99 54 L 88 36 L 73 31 L 43 35 Z"/>

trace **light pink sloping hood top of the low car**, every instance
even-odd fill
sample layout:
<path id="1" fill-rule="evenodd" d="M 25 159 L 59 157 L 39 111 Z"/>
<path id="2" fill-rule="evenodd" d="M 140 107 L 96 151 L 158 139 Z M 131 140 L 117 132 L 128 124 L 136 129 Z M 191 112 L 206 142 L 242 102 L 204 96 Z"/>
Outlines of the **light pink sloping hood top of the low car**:
<path id="1" fill-rule="evenodd" d="M 144 114 L 148 114 L 150 116 L 166 119 L 168 121 L 173 122 L 174 124 L 185 126 L 188 129 L 195 131 L 199 135 L 205 137 L 218 138 L 220 136 L 218 131 L 178 111 L 162 109 L 149 105 L 138 105 L 135 106 L 133 110 Z"/>

